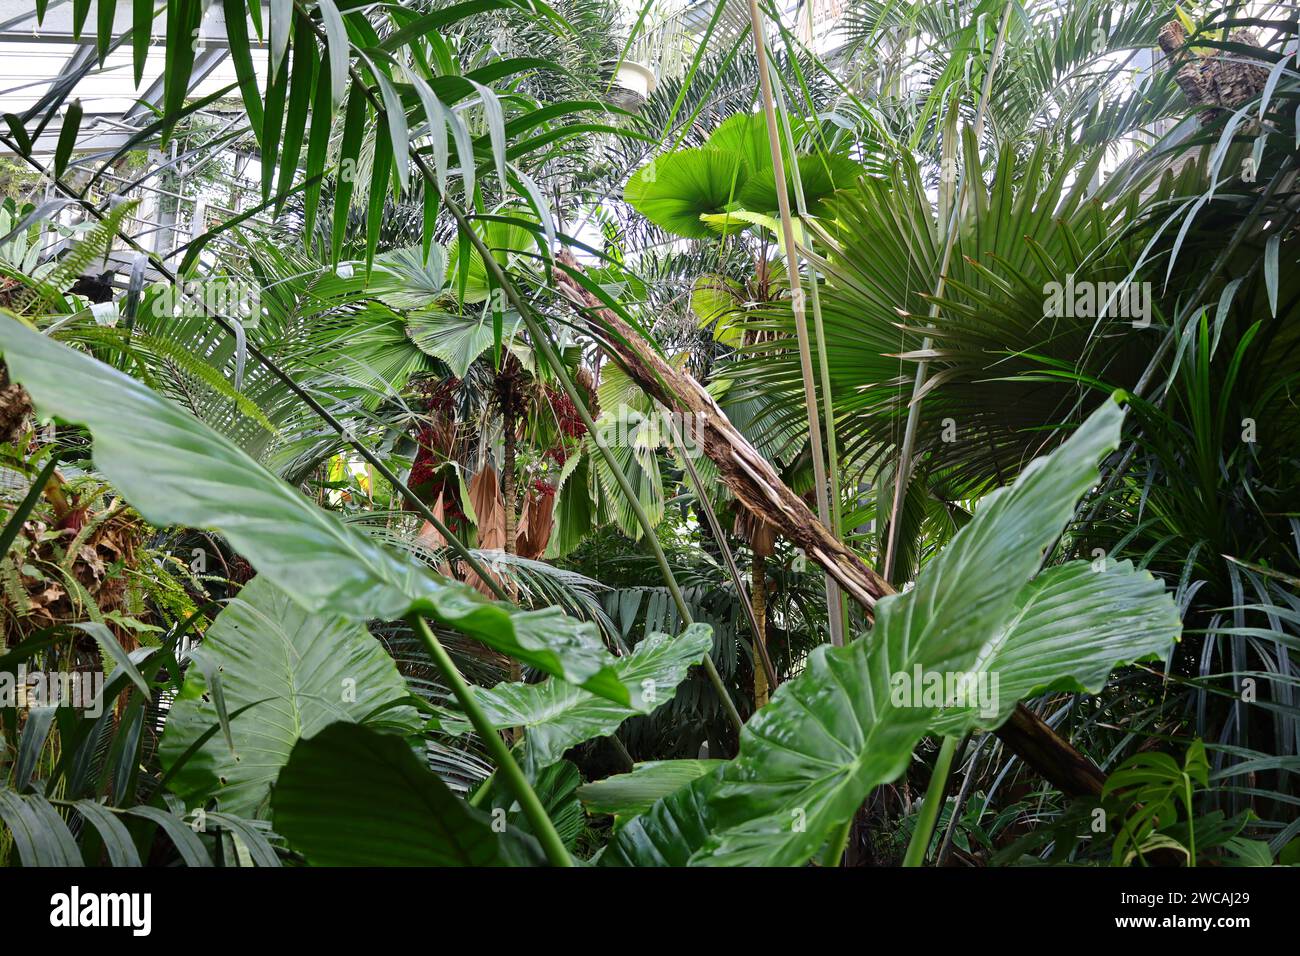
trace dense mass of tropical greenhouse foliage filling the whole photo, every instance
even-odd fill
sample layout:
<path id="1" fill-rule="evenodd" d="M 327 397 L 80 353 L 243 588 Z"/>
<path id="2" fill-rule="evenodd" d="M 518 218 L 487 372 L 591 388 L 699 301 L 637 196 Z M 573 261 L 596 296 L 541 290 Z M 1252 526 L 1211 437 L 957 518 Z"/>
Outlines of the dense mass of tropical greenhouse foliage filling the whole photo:
<path id="1" fill-rule="evenodd" d="M 1300 861 L 1294 10 L 209 7 L 0 131 L 0 861 Z"/>

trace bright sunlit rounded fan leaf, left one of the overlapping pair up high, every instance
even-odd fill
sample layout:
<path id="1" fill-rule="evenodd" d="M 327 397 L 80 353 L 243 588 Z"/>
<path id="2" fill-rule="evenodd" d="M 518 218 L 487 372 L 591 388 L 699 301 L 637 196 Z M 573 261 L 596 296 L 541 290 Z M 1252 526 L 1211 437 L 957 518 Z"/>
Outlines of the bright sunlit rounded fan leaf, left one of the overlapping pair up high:
<path id="1" fill-rule="evenodd" d="M 670 233 L 705 239 L 712 230 L 701 215 L 723 212 L 749 177 L 740 155 L 722 150 L 679 150 L 655 156 L 623 190 L 632 208 Z"/>

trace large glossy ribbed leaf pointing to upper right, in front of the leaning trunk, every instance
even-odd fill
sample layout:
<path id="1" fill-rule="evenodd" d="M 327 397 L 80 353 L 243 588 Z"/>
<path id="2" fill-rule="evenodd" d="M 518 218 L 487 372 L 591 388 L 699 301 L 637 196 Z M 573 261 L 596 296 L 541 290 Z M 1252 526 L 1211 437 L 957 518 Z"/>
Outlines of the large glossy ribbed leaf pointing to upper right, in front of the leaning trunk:
<path id="1" fill-rule="evenodd" d="M 1014 617 L 1022 588 L 1097 480 L 1123 412 L 1105 402 L 1053 454 L 989 494 L 916 578 L 876 605 L 872 632 L 818 648 L 746 724 L 710 801 L 718 831 L 693 862 L 800 865 L 872 787 L 897 778 L 937 709 L 892 700 L 896 674 L 971 671 Z"/>

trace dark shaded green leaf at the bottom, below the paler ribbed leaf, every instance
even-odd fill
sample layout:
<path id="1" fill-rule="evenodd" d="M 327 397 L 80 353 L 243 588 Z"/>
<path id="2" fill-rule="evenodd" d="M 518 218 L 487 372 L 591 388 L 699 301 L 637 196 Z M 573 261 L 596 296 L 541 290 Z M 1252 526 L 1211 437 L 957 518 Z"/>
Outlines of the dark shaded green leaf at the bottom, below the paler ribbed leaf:
<path id="1" fill-rule="evenodd" d="M 334 723 L 299 740 L 270 796 L 276 832 L 317 866 L 493 866 L 500 838 L 399 736 Z"/>

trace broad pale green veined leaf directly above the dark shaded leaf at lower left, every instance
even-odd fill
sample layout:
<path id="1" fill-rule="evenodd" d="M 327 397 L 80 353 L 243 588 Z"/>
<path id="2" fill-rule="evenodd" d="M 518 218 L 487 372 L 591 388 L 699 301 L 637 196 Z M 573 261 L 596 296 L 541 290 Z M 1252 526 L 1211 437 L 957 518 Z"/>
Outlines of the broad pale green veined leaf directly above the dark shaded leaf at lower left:
<path id="1" fill-rule="evenodd" d="M 209 736 L 172 778 L 188 804 L 216 797 L 226 813 L 257 814 L 294 744 L 328 724 L 361 722 L 380 706 L 407 696 L 393 658 L 364 624 L 312 614 L 264 578 L 239 592 L 194 652 L 162 734 L 160 757 L 170 769 L 218 722 L 208 674 L 218 674 L 226 711 L 244 714 L 225 736 Z M 415 732 L 411 708 L 382 713 L 386 723 Z"/>

